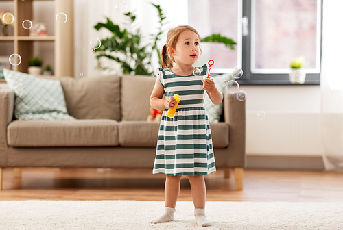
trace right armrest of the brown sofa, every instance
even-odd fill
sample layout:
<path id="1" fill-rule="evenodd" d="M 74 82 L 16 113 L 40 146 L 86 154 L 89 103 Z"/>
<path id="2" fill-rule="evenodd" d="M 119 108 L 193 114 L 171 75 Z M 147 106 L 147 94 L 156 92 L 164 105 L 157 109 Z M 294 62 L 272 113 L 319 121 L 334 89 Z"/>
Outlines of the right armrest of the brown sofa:
<path id="1" fill-rule="evenodd" d="M 246 166 L 246 101 L 238 101 L 235 94 L 224 94 L 224 118 L 229 125 L 228 165 Z"/>

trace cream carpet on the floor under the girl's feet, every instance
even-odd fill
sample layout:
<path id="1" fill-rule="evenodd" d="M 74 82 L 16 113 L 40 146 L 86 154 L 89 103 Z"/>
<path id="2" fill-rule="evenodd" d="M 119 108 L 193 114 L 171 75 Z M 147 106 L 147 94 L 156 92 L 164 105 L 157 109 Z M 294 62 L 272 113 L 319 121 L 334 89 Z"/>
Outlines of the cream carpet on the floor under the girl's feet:
<path id="1" fill-rule="evenodd" d="M 0 229 L 343 229 L 343 203 L 207 202 L 211 227 L 179 201 L 175 220 L 152 225 L 161 201 L 0 201 Z"/>

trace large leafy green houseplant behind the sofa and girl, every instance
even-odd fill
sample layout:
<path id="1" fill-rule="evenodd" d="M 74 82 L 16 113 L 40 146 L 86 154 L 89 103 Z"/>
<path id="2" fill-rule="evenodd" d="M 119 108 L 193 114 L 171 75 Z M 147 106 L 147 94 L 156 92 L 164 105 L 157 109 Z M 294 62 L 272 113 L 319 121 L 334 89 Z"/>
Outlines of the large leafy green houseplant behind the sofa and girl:
<path id="1" fill-rule="evenodd" d="M 160 50 L 158 49 L 158 42 L 161 34 L 165 31 L 165 15 L 160 5 L 154 5 L 158 11 L 159 25 L 157 34 L 151 35 L 152 42 L 147 45 L 142 44 L 142 34 L 139 29 L 121 29 L 119 25 L 113 23 L 110 18 L 106 18 L 106 23 L 97 23 L 94 26 L 97 31 L 99 29 L 108 29 L 112 35 L 101 40 L 102 46 L 96 50 L 97 68 L 110 69 L 109 66 L 104 66 L 101 62 L 102 58 L 108 58 L 121 64 L 121 71 L 124 74 L 135 75 L 152 75 L 152 55 L 157 54 L 160 58 Z M 125 14 L 128 18 L 128 27 L 134 25 L 136 16 L 132 12 Z M 235 49 L 237 44 L 231 38 L 226 38 L 220 34 L 212 34 L 206 38 L 202 38 L 202 42 L 220 42 Z"/>

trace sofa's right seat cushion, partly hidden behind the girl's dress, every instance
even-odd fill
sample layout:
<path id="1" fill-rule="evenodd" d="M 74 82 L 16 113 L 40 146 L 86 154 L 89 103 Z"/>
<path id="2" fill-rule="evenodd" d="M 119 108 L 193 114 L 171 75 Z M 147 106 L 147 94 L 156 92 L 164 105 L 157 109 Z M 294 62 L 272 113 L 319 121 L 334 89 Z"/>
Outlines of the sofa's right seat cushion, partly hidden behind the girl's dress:
<path id="1" fill-rule="evenodd" d="M 159 122 L 121 121 L 119 122 L 119 145 L 126 147 L 156 147 Z M 228 125 L 210 124 L 214 148 L 228 146 Z"/>

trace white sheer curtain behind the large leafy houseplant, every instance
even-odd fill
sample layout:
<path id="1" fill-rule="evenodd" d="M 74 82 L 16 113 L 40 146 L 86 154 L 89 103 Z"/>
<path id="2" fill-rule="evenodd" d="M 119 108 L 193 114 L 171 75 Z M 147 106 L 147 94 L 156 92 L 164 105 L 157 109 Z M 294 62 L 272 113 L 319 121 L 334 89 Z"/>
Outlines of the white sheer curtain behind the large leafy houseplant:
<path id="1" fill-rule="evenodd" d="M 156 34 L 157 31 L 158 13 L 151 3 L 161 5 L 165 16 L 167 16 L 166 32 L 170 27 L 188 23 L 188 4 L 185 0 L 126 0 L 124 2 L 127 2 L 126 12 L 134 12 L 134 15 L 137 16 L 135 23 L 141 29 L 144 38 L 148 38 L 150 34 Z M 106 59 L 102 60 L 102 62 L 106 65 L 113 65 L 113 71 L 100 71 L 95 68 L 97 66 L 96 54 L 91 52 L 89 46 L 91 39 L 102 39 L 111 35 L 106 29 L 100 31 L 94 29 L 94 25 L 97 23 L 106 22 L 105 17 L 121 26 L 127 24 L 126 16 L 116 10 L 115 5 L 117 3 L 120 3 L 120 1 L 74 0 L 75 77 L 80 77 L 81 73 L 85 77 L 120 73 L 120 66 L 114 62 L 107 62 Z M 165 40 L 165 38 L 163 39 Z M 158 66 L 158 59 L 156 59 L 156 67 Z"/>

